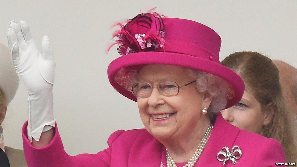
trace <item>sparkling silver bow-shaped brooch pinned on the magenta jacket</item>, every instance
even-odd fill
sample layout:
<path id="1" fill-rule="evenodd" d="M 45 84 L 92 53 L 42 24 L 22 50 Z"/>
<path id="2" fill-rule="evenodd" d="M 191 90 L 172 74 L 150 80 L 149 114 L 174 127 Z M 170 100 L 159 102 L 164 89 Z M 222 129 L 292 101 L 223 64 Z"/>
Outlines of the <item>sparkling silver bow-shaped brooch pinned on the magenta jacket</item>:
<path id="1" fill-rule="evenodd" d="M 231 160 L 233 164 L 236 164 L 237 162 L 235 161 L 235 159 L 239 159 L 241 155 L 242 151 L 240 150 L 238 145 L 235 145 L 232 147 L 231 152 L 228 147 L 223 147 L 222 151 L 218 152 L 217 159 L 219 161 L 223 161 L 222 165 L 225 165 L 226 161 L 228 160 Z"/>

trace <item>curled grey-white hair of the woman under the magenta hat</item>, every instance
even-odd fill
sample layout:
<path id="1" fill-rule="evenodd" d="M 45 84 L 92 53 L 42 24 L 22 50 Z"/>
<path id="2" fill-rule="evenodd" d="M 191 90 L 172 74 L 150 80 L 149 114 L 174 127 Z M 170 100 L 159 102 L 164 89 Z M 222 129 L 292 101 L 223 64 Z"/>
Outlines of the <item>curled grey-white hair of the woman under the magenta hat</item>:
<path id="1" fill-rule="evenodd" d="M 229 89 L 228 82 L 218 76 L 204 71 L 196 71 L 187 68 L 187 73 L 190 75 L 190 77 L 197 79 L 196 87 L 199 92 L 208 93 L 213 97 L 207 110 L 210 115 L 215 116 L 226 107 L 226 97 Z"/>

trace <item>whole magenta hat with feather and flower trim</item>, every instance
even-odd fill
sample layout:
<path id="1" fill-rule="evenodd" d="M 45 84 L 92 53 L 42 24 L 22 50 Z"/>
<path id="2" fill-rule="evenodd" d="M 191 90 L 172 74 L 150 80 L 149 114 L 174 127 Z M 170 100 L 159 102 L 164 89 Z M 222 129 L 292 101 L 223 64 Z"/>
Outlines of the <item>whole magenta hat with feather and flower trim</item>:
<path id="1" fill-rule="evenodd" d="M 156 12 L 142 13 L 127 21 L 114 34 L 119 37 L 118 52 L 123 55 L 112 61 L 107 69 L 111 85 L 133 101 L 130 91 L 131 74 L 145 64 L 169 64 L 205 71 L 225 79 L 229 108 L 241 99 L 243 80 L 231 69 L 220 64 L 220 36 L 208 26 L 195 21 L 167 18 Z"/>

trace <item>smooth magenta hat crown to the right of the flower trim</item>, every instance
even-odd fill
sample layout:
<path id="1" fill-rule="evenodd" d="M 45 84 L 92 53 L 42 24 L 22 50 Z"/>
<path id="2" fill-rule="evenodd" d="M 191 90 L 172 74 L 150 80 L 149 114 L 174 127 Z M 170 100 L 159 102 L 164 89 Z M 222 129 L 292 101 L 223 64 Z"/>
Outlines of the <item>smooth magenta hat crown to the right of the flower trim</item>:
<path id="1" fill-rule="evenodd" d="M 221 38 L 214 30 L 201 23 L 178 18 L 163 18 L 165 44 L 170 45 L 171 40 L 191 43 L 204 48 L 218 58 Z M 187 46 L 183 46 L 187 49 Z M 164 47 L 165 51 L 166 46 Z"/>

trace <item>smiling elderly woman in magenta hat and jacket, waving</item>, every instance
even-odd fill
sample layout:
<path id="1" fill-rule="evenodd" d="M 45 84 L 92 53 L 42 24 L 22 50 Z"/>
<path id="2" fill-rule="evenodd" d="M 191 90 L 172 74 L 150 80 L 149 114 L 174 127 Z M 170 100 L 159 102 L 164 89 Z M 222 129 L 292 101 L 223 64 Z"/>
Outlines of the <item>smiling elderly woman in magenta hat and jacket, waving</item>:
<path id="1" fill-rule="evenodd" d="M 28 166 L 270 166 L 285 162 L 275 139 L 226 122 L 242 79 L 219 63 L 221 39 L 200 23 L 155 12 L 129 19 L 118 37 L 123 55 L 108 67 L 111 85 L 137 101 L 145 129 L 118 130 L 109 148 L 69 156 L 53 117 L 54 61 L 48 38 L 39 52 L 26 22 L 10 23 L 12 60 L 26 85 L 29 120 L 23 126 Z"/>

